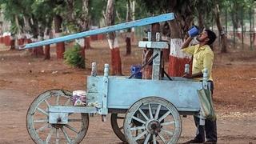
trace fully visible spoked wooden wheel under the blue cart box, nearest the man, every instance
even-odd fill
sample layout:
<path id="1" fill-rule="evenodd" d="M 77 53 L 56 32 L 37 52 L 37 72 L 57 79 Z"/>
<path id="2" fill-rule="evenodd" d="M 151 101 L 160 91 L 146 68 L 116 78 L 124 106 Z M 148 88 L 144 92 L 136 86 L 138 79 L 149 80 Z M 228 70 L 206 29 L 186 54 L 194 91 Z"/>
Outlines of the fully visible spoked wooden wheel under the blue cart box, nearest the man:
<path id="1" fill-rule="evenodd" d="M 181 132 L 178 110 L 163 98 L 138 100 L 127 111 L 124 120 L 124 134 L 129 143 L 177 143 Z"/>

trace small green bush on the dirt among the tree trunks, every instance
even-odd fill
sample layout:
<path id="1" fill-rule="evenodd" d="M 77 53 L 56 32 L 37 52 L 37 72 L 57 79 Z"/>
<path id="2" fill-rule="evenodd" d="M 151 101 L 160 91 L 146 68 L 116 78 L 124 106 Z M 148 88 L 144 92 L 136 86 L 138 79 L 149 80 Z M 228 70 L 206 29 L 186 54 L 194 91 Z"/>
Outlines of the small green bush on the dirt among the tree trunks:
<path id="1" fill-rule="evenodd" d="M 85 58 L 82 58 L 81 48 L 78 44 L 70 47 L 64 53 L 64 59 L 67 64 L 70 66 L 75 66 L 78 68 L 85 68 Z"/>

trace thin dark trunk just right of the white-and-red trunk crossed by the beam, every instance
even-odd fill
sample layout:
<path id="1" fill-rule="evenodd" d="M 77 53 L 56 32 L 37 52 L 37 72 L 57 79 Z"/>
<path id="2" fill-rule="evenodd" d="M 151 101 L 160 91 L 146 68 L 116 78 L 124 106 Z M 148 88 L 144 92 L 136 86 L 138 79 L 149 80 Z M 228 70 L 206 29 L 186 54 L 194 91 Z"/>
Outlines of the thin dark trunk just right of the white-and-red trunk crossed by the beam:
<path id="1" fill-rule="evenodd" d="M 127 0 L 127 11 L 126 11 L 126 22 L 131 21 L 131 13 L 130 13 L 130 0 Z M 130 45 L 130 36 L 131 36 L 131 29 L 128 29 L 126 32 L 126 55 L 130 55 L 131 53 L 131 45 Z"/>

